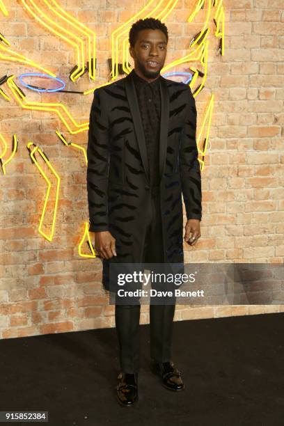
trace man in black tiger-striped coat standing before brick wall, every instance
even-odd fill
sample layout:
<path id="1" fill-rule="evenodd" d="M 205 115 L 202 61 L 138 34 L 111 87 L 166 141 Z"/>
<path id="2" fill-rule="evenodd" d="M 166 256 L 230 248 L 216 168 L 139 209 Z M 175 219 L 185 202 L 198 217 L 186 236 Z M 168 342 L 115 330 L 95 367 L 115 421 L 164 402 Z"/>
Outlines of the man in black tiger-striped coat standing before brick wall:
<path id="1" fill-rule="evenodd" d="M 103 262 L 181 263 L 184 241 L 200 237 L 201 183 L 196 147 L 196 104 L 189 86 L 164 79 L 168 31 L 159 19 L 140 19 L 129 31 L 134 70 L 95 90 L 88 134 L 90 232 Z M 152 371 L 170 390 L 184 389 L 171 361 L 175 303 L 150 305 Z M 138 399 L 140 304 L 116 303 L 120 368 L 116 394 Z"/>

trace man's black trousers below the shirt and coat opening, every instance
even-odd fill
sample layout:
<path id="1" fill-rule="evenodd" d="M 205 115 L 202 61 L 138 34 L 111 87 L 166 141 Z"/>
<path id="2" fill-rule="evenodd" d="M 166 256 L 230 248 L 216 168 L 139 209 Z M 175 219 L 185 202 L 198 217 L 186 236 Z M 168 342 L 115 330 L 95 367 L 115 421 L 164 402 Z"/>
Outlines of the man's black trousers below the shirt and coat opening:
<path id="1" fill-rule="evenodd" d="M 145 212 L 147 231 L 143 250 L 143 262 L 164 262 L 162 245 L 159 191 L 151 190 L 151 203 Z M 137 305 L 116 304 L 116 331 L 119 342 L 120 368 L 125 373 L 139 372 L 139 319 L 140 303 Z M 157 362 L 171 360 L 171 337 L 175 300 L 171 305 L 150 304 L 150 357 Z"/>

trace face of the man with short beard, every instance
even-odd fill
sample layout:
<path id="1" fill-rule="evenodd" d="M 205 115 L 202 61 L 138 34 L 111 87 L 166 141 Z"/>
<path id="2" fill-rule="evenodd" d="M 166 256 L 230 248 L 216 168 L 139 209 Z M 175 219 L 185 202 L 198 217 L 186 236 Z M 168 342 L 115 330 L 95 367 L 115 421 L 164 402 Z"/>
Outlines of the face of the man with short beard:
<path id="1" fill-rule="evenodd" d="M 166 36 L 159 29 L 141 30 L 129 52 L 134 58 L 135 70 L 146 79 L 156 79 L 166 60 Z"/>

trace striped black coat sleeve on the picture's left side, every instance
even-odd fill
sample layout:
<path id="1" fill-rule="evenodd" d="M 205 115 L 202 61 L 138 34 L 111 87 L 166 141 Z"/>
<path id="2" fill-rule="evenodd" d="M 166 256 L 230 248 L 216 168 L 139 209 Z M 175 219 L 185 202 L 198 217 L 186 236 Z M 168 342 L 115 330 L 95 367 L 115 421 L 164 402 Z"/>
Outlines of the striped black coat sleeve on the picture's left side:
<path id="1" fill-rule="evenodd" d="M 109 123 L 99 89 L 90 107 L 87 158 L 89 231 L 108 230 Z"/>

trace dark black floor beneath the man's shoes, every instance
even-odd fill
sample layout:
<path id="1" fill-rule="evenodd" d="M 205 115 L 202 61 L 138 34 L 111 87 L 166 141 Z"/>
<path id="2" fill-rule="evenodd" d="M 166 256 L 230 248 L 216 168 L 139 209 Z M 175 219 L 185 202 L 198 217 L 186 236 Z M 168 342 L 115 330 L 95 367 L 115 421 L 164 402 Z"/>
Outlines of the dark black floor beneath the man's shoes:
<path id="1" fill-rule="evenodd" d="M 115 329 L 1 340 L 0 411 L 49 411 L 45 424 L 52 426 L 282 426 L 283 319 L 276 313 L 175 322 L 173 361 L 187 386 L 181 393 L 150 373 L 149 326 L 141 326 L 133 407 L 116 402 Z"/>

